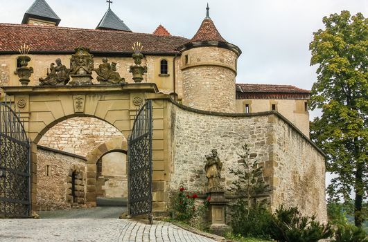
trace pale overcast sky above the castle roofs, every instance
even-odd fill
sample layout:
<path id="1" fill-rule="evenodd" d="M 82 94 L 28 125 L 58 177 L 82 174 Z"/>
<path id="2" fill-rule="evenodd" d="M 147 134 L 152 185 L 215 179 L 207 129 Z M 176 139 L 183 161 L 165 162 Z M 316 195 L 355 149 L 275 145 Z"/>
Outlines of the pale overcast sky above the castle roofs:
<path id="1" fill-rule="evenodd" d="M 1 23 L 20 24 L 34 0 L 0 0 Z M 106 0 L 46 0 L 62 19 L 60 26 L 96 28 Z M 162 24 L 172 35 L 191 38 L 206 15 L 222 37 L 243 51 L 238 83 L 292 84 L 310 89 L 316 66 L 308 44 L 323 28 L 322 18 L 341 10 L 368 15 L 366 0 L 112 0 L 112 10 L 134 32 L 152 33 Z"/>

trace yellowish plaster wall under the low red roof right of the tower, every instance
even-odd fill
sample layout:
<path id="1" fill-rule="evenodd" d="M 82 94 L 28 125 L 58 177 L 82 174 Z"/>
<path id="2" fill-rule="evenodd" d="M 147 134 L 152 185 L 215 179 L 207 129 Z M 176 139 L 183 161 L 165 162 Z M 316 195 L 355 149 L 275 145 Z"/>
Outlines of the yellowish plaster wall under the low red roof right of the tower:
<path id="1" fill-rule="evenodd" d="M 309 137 L 309 113 L 304 111 L 304 103 L 308 100 L 236 100 L 236 113 L 245 113 L 245 104 L 249 104 L 251 113 L 272 110 L 272 104 L 276 104 L 276 111 L 290 120 L 298 129 Z"/>

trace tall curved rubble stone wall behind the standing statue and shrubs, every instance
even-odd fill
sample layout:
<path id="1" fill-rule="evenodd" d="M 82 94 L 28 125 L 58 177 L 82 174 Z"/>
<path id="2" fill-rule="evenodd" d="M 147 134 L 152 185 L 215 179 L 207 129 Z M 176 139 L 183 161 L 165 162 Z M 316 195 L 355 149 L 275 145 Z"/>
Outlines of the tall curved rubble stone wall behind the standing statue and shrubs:
<path id="1" fill-rule="evenodd" d="M 170 189 L 184 186 L 204 193 L 207 178 L 204 156 L 218 149 L 223 162 L 221 184 L 229 188 L 238 153 L 247 143 L 250 156 L 263 167 L 263 177 L 272 187 L 272 209 L 281 204 L 298 205 L 303 214 L 317 214 L 326 221 L 324 158 L 310 141 L 276 113 L 209 115 L 173 105 L 173 175 Z M 227 192 L 229 194 L 229 192 Z"/>

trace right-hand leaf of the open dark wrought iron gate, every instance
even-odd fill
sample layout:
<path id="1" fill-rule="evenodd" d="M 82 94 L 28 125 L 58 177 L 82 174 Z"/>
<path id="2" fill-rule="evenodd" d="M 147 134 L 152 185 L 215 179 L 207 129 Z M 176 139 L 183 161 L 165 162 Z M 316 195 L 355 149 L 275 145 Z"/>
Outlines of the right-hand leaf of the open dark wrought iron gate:
<path id="1" fill-rule="evenodd" d="M 139 109 L 128 139 L 130 216 L 152 218 L 152 101 Z"/>

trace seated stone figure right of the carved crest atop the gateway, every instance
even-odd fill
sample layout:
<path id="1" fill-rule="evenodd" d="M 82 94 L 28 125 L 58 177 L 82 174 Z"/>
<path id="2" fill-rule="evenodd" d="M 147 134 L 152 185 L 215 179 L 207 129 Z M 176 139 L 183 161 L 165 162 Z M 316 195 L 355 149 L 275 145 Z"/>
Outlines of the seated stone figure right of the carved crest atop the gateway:
<path id="1" fill-rule="evenodd" d="M 103 57 L 103 64 L 100 64 L 98 68 L 94 68 L 98 77 L 97 80 L 100 84 L 125 84 L 125 79 L 120 77 L 120 74 L 116 71 L 116 63 L 109 64 L 107 58 Z"/>

